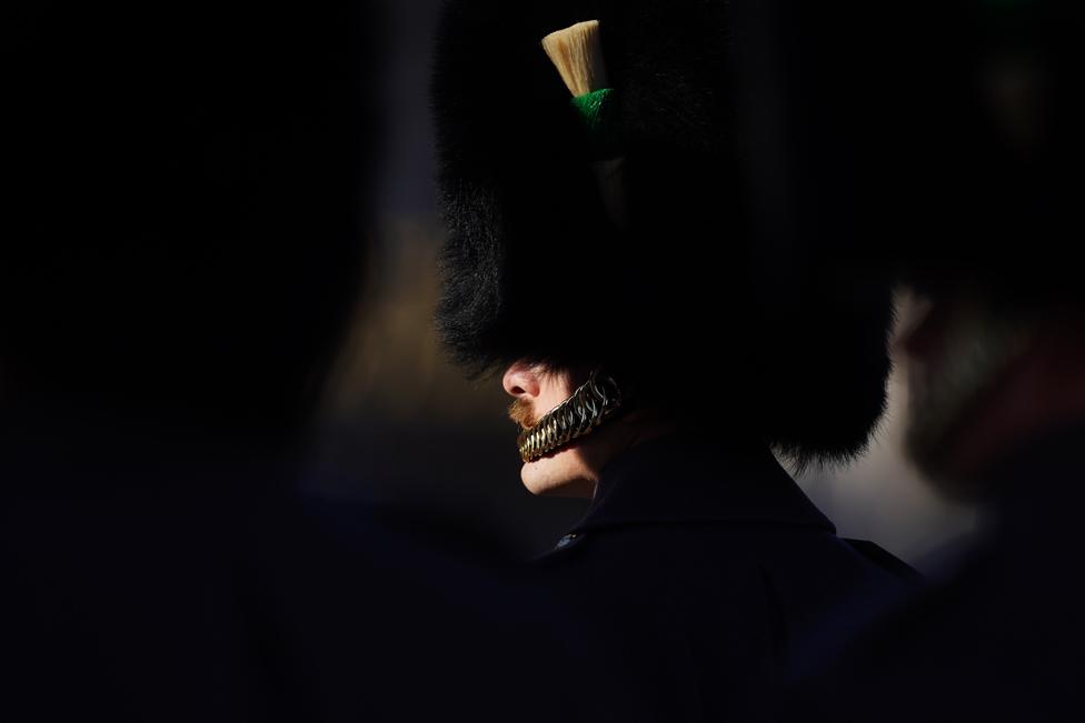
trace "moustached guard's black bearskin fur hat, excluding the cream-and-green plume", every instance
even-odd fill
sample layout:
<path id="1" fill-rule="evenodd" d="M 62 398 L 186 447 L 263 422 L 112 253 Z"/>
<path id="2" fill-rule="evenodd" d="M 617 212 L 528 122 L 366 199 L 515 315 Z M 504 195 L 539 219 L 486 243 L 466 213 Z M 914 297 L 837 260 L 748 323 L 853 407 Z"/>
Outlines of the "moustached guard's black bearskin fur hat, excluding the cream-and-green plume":
<path id="1" fill-rule="evenodd" d="M 589 19 L 616 92 L 620 229 L 540 48 Z M 847 454 L 884 406 L 888 287 L 859 292 L 816 273 L 809 253 L 754 242 L 733 28 L 721 0 L 446 6 L 432 86 L 449 232 L 438 325 L 474 373 L 603 363 L 684 415 Z"/>

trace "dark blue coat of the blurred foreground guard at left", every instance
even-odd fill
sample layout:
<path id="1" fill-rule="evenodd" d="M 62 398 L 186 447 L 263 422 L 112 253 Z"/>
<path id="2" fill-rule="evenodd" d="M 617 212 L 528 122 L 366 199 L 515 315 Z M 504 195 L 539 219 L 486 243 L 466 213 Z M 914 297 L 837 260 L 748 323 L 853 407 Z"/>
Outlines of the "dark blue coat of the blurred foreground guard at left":
<path id="1" fill-rule="evenodd" d="M 4 481 L 40 486 L 7 462 Z M 0 506 L 0 721 L 554 721 L 575 707 L 529 695 L 559 660 L 534 624 L 555 605 L 519 596 L 462 536 L 259 494 L 270 476 L 119 474 L 104 491 L 93 472 L 50 474 L 87 491 Z"/>

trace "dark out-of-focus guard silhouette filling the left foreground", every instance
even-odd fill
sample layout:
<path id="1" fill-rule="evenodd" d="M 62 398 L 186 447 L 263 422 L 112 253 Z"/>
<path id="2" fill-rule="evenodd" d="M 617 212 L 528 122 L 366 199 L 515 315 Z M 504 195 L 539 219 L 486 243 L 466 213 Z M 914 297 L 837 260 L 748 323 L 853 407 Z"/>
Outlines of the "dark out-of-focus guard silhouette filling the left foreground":
<path id="1" fill-rule="evenodd" d="M 480 565 L 296 496 L 365 261 L 372 8 L 12 14 L 0 719 L 541 715 Z"/>

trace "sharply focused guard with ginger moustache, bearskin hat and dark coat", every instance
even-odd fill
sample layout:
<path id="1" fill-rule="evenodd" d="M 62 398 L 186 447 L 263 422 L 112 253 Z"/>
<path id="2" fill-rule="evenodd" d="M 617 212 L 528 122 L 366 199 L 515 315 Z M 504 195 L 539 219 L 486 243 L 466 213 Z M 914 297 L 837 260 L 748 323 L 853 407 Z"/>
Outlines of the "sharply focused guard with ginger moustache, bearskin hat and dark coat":
<path id="1" fill-rule="evenodd" d="M 607 83 L 575 106 L 540 40 L 591 19 Z M 847 243 L 755 242 L 730 20 L 724 2 L 458 0 L 439 31 L 438 322 L 470 372 L 505 370 L 528 490 L 590 498 L 530 570 L 593 719 L 770 717 L 793 667 L 912 585 L 772 453 L 864 449 L 890 288 Z"/>

